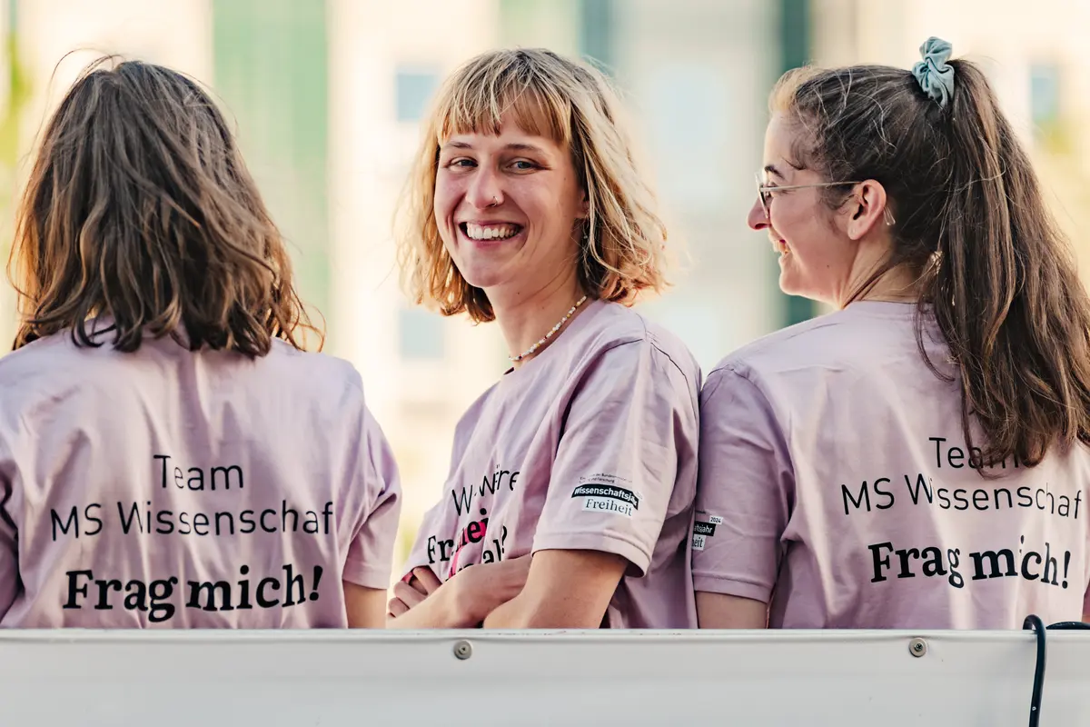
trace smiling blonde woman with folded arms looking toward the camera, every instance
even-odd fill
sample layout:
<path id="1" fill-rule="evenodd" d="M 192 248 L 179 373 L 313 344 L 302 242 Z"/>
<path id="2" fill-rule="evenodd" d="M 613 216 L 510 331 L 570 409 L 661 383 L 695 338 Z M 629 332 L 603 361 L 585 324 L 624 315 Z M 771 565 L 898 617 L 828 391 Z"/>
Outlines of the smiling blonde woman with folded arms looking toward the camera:
<path id="1" fill-rule="evenodd" d="M 700 371 L 630 307 L 664 286 L 665 231 L 605 80 L 471 60 L 405 202 L 413 296 L 495 320 L 513 365 L 458 424 L 389 626 L 694 626 Z"/>

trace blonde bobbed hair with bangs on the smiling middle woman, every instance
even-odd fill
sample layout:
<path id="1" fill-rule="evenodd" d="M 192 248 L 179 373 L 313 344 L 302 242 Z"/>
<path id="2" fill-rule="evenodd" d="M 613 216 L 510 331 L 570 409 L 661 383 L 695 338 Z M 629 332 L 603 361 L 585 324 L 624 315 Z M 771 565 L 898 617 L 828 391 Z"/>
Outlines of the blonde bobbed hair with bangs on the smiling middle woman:
<path id="1" fill-rule="evenodd" d="M 420 153 L 398 206 L 396 239 L 402 284 L 416 303 L 443 315 L 493 320 L 492 303 L 461 276 L 435 220 L 439 147 L 450 136 L 499 134 L 508 111 L 528 134 L 565 146 L 586 194 L 579 280 L 589 298 L 631 305 L 661 292 L 666 227 L 620 128 L 619 101 L 595 69 L 549 50 L 483 53 L 444 84 L 425 124 Z"/>

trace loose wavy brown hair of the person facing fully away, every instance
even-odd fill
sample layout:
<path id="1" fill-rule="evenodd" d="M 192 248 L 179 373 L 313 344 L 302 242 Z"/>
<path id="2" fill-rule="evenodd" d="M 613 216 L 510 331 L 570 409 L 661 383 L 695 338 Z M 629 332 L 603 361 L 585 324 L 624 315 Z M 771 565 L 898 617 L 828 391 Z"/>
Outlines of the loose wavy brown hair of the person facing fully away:
<path id="1" fill-rule="evenodd" d="M 249 356 L 316 331 L 228 125 L 192 80 L 110 59 L 87 66 L 46 125 L 16 213 L 14 348 L 112 318 L 113 348 L 170 335 Z M 14 269 L 13 269 L 14 268 Z M 320 334 L 319 346 L 320 346 Z"/>

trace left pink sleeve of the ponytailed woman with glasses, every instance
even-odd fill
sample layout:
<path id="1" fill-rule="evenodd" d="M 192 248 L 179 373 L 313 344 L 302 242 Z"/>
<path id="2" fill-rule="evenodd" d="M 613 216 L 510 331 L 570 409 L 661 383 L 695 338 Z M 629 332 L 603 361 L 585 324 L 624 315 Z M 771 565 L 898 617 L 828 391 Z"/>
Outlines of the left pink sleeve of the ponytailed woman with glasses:
<path id="1" fill-rule="evenodd" d="M 729 368 L 708 375 L 700 420 L 693 586 L 768 603 L 795 497 L 782 429 L 765 396 Z"/>

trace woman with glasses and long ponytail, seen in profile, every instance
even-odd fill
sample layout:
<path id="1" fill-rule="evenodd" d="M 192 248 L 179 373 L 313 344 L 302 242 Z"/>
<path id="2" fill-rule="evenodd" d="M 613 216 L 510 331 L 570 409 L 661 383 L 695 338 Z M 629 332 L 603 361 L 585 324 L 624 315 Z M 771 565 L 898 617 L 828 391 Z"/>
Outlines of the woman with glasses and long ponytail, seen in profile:
<path id="1" fill-rule="evenodd" d="M 1087 606 L 1090 302 L 981 70 L 776 85 L 759 199 L 835 311 L 701 397 L 702 628 L 1021 628 Z"/>

